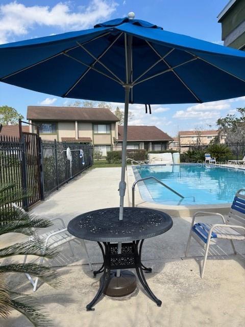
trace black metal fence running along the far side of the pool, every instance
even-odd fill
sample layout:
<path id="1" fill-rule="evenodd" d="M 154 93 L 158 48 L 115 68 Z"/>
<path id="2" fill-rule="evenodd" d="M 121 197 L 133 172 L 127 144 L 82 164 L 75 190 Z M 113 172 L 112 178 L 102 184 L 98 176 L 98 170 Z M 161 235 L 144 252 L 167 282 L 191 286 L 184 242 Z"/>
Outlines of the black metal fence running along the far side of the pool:
<path id="1" fill-rule="evenodd" d="M 245 143 L 226 144 L 230 149 L 227 155 L 223 155 L 223 160 L 242 159 L 245 155 Z M 182 162 L 190 161 L 188 152 L 209 151 L 210 145 L 204 144 L 165 144 L 161 145 L 161 150 L 145 149 L 144 144 L 129 144 L 127 145 L 127 157 L 137 160 L 145 160 L 148 158 L 148 153 L 163 153 L 163 152 L 179 152 Z M 153 147 L 157 149 L 157 147 Z M 101 145 L 93 146 L 93 162 L 94 164 L 121 164 L 121 144 L 120 145 Z M 130 163 L 130 161 L 129 161 Z"/>

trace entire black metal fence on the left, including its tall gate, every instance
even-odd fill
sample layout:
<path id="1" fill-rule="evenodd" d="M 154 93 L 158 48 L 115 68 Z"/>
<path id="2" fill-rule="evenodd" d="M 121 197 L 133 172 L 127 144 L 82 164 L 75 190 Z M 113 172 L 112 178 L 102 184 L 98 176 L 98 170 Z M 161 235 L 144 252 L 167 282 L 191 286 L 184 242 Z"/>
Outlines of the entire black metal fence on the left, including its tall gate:
<path id="1" fill-rule="evenodd" d="M 21 138 L 0 135 L 0 183 L 14 183 L 16 191 L 27 193 L 18 204 L 28 208 L 91 167 L 92 151 L 86 144 L 42 141 L 34 133 L 22 133 Z"/>

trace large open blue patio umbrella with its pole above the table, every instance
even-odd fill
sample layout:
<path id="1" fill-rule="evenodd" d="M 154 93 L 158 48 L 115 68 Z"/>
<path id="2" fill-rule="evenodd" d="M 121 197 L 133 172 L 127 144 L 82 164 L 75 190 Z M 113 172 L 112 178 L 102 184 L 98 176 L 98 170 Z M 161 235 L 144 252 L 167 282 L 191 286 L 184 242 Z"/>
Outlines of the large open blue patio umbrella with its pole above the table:
<path id="1" fill-rule="evenodd" d="M 0 45 L 0 81 L 60 97 L 125 102 L 123 217 L 129 103 L 202 103 L 245 95 L 245 53 L 140 19 Z"/>

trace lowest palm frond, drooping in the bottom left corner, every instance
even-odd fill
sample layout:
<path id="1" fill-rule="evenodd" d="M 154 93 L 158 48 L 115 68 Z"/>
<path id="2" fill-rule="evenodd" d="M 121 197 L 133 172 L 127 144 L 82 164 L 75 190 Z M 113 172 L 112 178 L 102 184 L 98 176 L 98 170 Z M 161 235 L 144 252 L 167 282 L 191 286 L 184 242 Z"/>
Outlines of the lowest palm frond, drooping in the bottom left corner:
<path id="1" fill-rule="evenodd" d="M 15 292 L 9 292 L 9 294 L 9 306 L 26 316 L 35 327 L 53 326 L 43 306 L 37 303 L 35 297 Z"/>

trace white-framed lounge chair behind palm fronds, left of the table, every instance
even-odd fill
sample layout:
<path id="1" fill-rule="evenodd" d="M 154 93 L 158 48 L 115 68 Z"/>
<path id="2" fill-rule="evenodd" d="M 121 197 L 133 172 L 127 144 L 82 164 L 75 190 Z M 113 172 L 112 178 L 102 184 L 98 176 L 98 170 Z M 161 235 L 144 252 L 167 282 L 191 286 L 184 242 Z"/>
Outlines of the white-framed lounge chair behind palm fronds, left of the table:
<path id="1" fill-rule="evenodd" d="M 18 206 L 16 203 L 12 203 L 12 205 L 15 208 L 17 208 L 17 209 L 23 211 L 24 213 L 26 213 L 24 211 L 24 209 L 21 208 L 20 206 Z M 79 242 L 79 243 L 81 243 L 83 245 L 83 247 L 85 249 L 86 258 L 87 258 L 87 261 L 88 261 L 88 264 L 89 264 L 89 268 L 90 268 L 90 270 L 93 270 L 85 241 L 82 240 L 82 239 L 78 239 L 77 237 L 71 235 L 67 231 L 67 228 L 65 227 L 65 223 L 64 223 L 63 219 L 61 219 L 61 218 L 50 219 L 50 221 L 52 221 L 52 222 L 55 221 L 55 220 L 60 221 L 61 227 L 56 227 L 55 229 L 47 231 L 47 232 L 42 233 L 40 235 L 38 235 L 38 233 L 35 231 L 35 235 L 31 236 L 29 238 L 29 240 L 38 239 L 38 240 L 44 242 L 44 247 L 49 246 L 49 247 L 52 247 L 52 248 L 56 248 L 56 247 L 59 247 L 59 246 L 65 244 L 65 243 L 68 243 L 72 256 L 74 256 L 74 252 L 72 250 L 70 242 L 71 241 Z M 44 260 L 44 258 L 41 257 L 40 260 L 39 260 L 40 265 L 43 263 L 43 260 Z M 27 262 L 27 255 L 24 256 L 23 263 L 26 263 L 26 262 Z M 34 280 L 32 278 L 32 276 L 30 276 L 27 273 L 26 273 L 26 276 L 27 276 L 27 278 L 29 279 L 29 281 L 31 282 L 31 284 L 33 286 L 33 292 L 35 292 L 36 289 L 37 289 L 37 285 L 38 285 L 38 277 L 36 277 L 35 280 Z"/>

